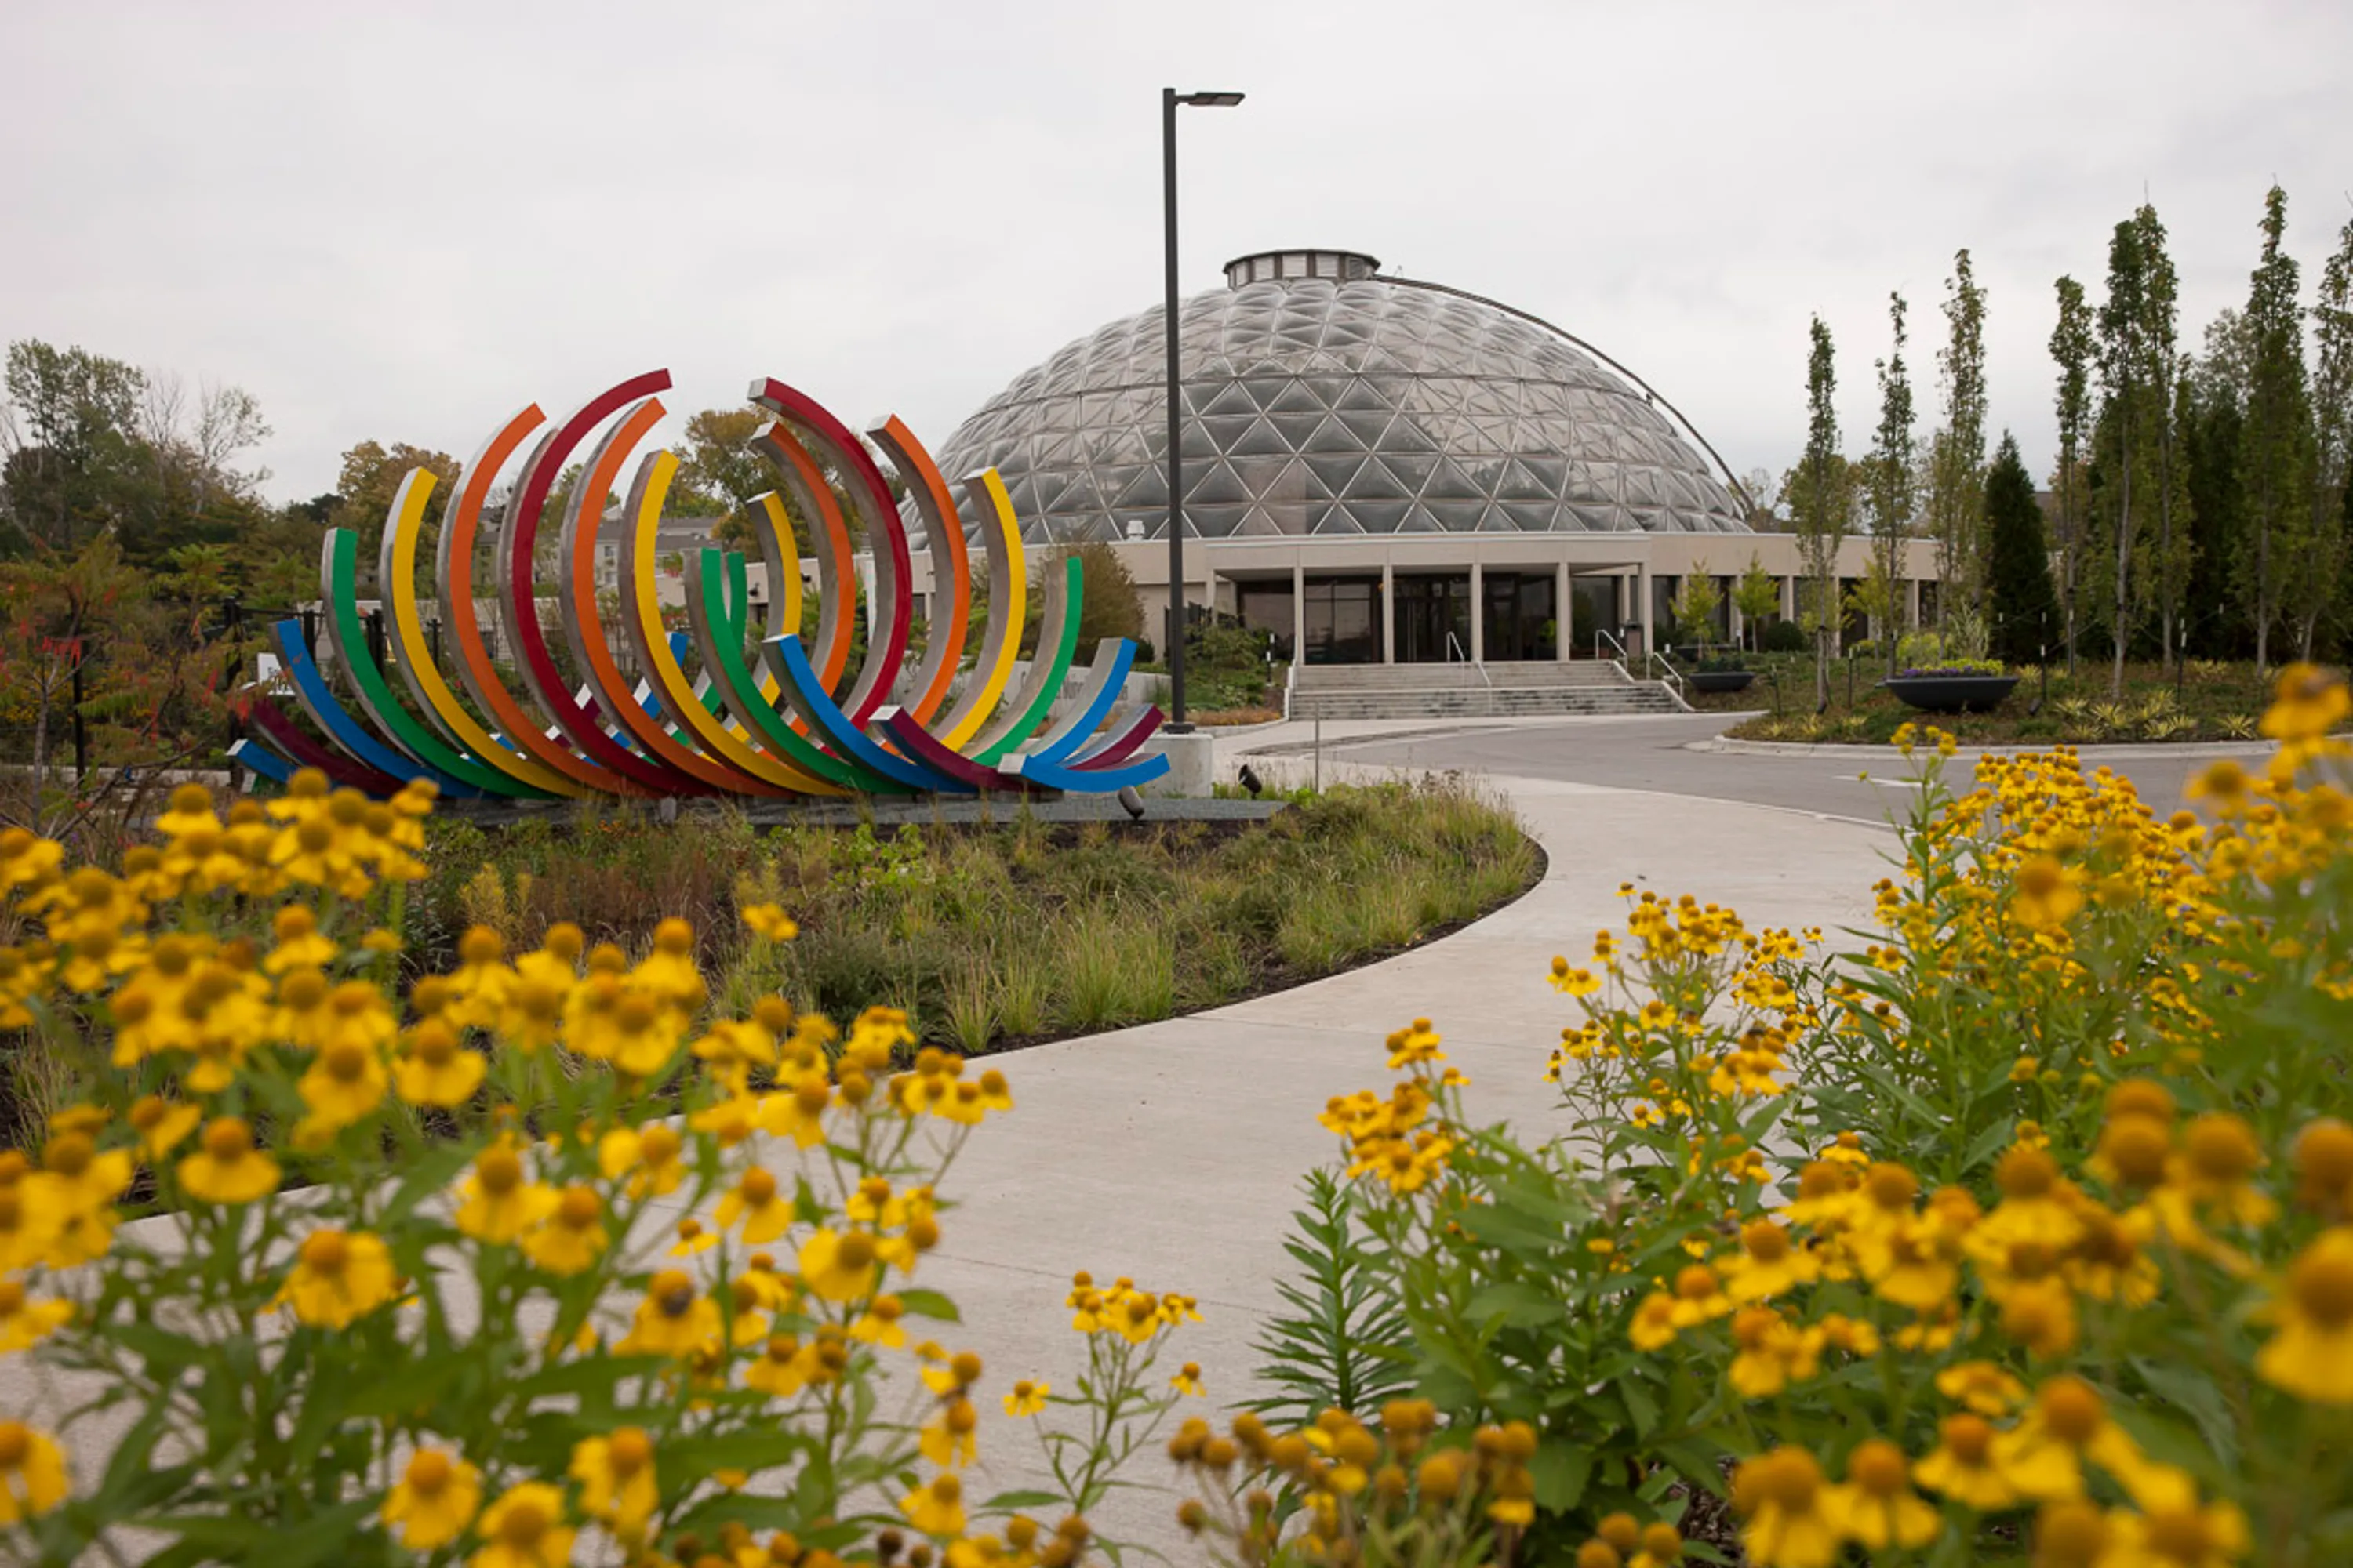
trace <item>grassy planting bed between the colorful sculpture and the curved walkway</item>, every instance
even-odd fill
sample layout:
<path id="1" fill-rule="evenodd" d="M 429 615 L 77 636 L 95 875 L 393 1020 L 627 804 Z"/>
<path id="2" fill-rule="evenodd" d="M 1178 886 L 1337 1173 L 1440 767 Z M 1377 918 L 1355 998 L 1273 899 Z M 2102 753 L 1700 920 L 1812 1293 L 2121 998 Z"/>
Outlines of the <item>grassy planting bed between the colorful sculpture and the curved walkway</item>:
<path id="1" fill-rule="evenodd" d="M 1534 844 L 1459 780 L 1301 795 L 1266 823 L 1040 823 L 755 830 L 581 811 L 511 830 L 433 820 L 405 938 L 445 964 L 473 924 L 511 950 L 576 919 L 642 952 L 678 914 L 727 1009 L 762 994 L 828 1013 L 901 1006 L 965 1053 L 1125 1027 L 1362 964 L 1525 891 Z M 736 907 L 776 903 L 788 945 Z"/>

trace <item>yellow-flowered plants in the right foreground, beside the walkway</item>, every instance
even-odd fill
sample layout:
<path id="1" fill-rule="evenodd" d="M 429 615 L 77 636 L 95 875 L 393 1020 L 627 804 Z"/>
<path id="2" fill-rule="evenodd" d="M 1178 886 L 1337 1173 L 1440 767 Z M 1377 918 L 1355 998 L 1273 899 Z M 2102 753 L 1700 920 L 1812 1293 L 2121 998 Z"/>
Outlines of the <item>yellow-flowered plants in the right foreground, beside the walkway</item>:
<path id="1" fill-rule="evenodd" d="M 1955 790 L 1929 731 L 1852 952 L 1621 889 L 1553 961 L 1562 1138 L 1471 1126 L 1428 1020 L 1393 1034 L 1322 1117 L 1348 1262 L 1440 1429 L 1532 1427 L 1499 1556 L 1642 1561 L 1715 1497 L 1760 1568 L 2346 1561 L 2348 715 L 2289 670 L 2212 820 L 2064 750 Z"/>

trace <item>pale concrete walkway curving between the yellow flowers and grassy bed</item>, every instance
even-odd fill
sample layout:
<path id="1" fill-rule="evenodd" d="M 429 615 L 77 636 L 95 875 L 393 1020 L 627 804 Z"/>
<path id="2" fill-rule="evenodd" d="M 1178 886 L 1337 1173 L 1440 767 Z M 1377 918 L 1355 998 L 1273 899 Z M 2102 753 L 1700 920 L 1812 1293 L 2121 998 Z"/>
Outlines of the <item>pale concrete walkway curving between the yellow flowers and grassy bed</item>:
<path id="1" fill-rule="evenodd" d="M 1332 741 L 1337 726 L 1325 729 Z M 1289 738 L 1271 731 L 1221 741 L 1224 773 L 1240 750 Z M 1311 764 L 1261 752 L 1252 766 L 1289 783 Z M 1325 762 L 1327 783 L 1384 773 Z M 1200 1361 L 1209 1403 L 1249 1399 L 1249 1340 L 1292 1267 L 1282 1239 L 1299 1178 L 1337 1147 L 1315 1114 L 1337 1093 L 1386 1091 L 1391 1030 L 1417 1016 L 1438 1025 L 1449 1060 L 1473 1079 L 1475 1117 L 1541 1119 L 1544 1063 L 1574 1016 L 1548 966 L 1621 924 L 1619 882 L 1732 905 L 1751 926 L 1835 929 L 1868 917 L 1871 884 L 1894 849 L 1887 830 L 1802 811 L 1482 783 L 1548 856 L 1544 882 L 1518 903 L 1372 969 L 1002 1058 L 1019 1110 L 986 1126 L 958 1164 L 951 1192 L 965 1208 L 944 1220 L 946 1244 L 922 1281 L 962 1307 L 960 1342 L 986 1356 L 988 1389 L 1038 1375 L 1073 1387 L 1085 1352 L 1061 1298 L 1073 1269 L 1092 1269 L 1198 1295 L 1207 1321 L 1174 1335 L 1172 1359 Z M 1033 1483 L 1033 1446 L 993 1396 L 984 1422 L 988 1486 Z M 1167 1479 L 1158 1453 L 1136 1479 Z M 1188 1561 L 1172 1507 L 1174 1497 L 1136 1493 L 1099 1521 Z"/>

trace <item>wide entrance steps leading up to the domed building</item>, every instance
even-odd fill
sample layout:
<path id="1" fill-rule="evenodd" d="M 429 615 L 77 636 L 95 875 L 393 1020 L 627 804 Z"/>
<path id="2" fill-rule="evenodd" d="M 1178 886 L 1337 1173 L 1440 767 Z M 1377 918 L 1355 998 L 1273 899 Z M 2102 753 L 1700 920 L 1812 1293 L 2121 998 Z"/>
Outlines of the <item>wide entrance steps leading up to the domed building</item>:
<path id="1" fill-rule="evenodd" d="M 1614 661 L 1292 665 L 1292 719 L 1504 719 L 1515 715 L 1689 712 L 1666 682 Z"/>

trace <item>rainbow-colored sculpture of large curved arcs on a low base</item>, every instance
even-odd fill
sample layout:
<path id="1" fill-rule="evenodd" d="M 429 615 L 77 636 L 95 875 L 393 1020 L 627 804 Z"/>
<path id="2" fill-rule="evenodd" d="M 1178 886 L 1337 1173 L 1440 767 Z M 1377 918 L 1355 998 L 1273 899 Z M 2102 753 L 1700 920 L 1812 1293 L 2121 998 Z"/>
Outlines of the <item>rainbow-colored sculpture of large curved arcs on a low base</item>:
<path id="1" fill-rule="evenodd" d="M 913 552 L 889 480 L 866 442 L 784 381 L 751 383 L 751 402 L 772 414 L 758 447 L 774 463 L 779 487 L 744 501 L 767 569 L 765 621 L 755 625 L 760 607 L 748 592 L 746 555 L 704 545 L 685 559 L 685 628 L 666 623 L 656 529 L 678 473 L 668 451 L 649 451 L 635 463 L 621 505 L 619 604 L 600 599 L 605 508 L 631 454 L 661 421 L 659 393 L 668 386 L 668 371 L 633 376 L 541 435 L 494 522 L 485 522 L 485 508 L 525 437 L 546 423 L 539 407 L 508 418 L 459 475 L 433 555 L 433 590 L 464 698 L 442 675 L 438 639 L 426 630 L 416 595 L 433 475 L 412 470 L 384 520 L 381 630 L 374 637 L 360 614 L 360 541 L 348 529 L 329 529 L 320 550 L 320 646 L 311 646 L 304 621 L 271 628 L 282 679 L 247 691 L 254 733 L 231 755 L 259 780 L 282 783 L 294 769 L 318 766 L 379 797 L 428 778 L 449 797 L 508 802 L 1059 795 L 1108 792 L 1167 773 L 1165 757 L 1136 755 L 1160 726 L 1160 710 L 1113 715 L 1134 663 L 1127 639 L 1094 651 L 1068 712 L 1059 722 L 1052 717 L 1078 656 L 1075 559 L 1038 583 L 1045 592 L 1038 654 L 1014 684 L 1033 583 L 1021 527 L 995 470 L 962 482 L 979 520 L 979 581 L 988 590 L 988 630 L 979 649 L 967 649 L 976 574 L 962 517 L 922 442 L 889 418 L 868 430 L 868 440 L 906 489 L 932 557 L 927 637 L 920 658 L 908 663 Z M 562 515 L 546 520 L 548 496 L 581 447 L 588 456 Z M 784 496 L 816 534 L 809 550 L 819 623 L 807 646 L 800 639 L 802 555 Z M 852 517 L 873 559 L 856 670 L 849 658 L 861 576 Z M 478 555 L 492 559 L 487 595 L 475 583 Z M 553 583 L 544 581 L 548 574 Z M 478 595 L 492 599 L 494 625 L 485 625 Z M 541 623 L 548 599 L 562 658 Z M 492 635 L 506 663 L 492 656 Z M 341 682 L 351 705 L 329 677 Z"/>

